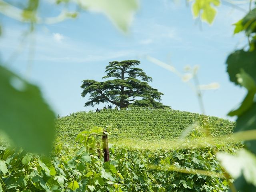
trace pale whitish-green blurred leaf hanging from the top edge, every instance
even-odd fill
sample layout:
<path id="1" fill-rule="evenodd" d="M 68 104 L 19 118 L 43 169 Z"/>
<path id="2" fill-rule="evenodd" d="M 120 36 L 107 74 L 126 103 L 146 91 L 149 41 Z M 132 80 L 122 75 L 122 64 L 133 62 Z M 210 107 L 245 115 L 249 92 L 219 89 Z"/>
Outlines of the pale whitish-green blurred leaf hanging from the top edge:
<path id="1" fill-rule="evenodd" d="M 126 32 L 134 13 L 138 10 L 138 0 L 77 0 L 86 10 L 105 14 L 118 28 Z"/>

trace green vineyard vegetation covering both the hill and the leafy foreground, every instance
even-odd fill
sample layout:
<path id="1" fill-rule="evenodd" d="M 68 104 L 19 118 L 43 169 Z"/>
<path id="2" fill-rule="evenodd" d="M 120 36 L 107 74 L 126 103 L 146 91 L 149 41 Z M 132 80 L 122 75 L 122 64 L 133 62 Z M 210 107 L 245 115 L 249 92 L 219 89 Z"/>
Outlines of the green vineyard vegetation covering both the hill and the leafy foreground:
<path id="1" fill-rule="evenodd" d="M 184 138 L 178 138 L 191 124 Z M 112 132 L 110 162 L 103 160 L 103 128 L 98 126 Z M 227 135 L 234 126 L 228 120 L 170 109 L 78 112 L 57 120 L 50 158 L 2 144 L 0 191 L 228 191 L 232 179 L 224 176 L 215 153 L 232 152 L 239 145 L 204 141 L 203 147 L 192 147 L 192 141 L 207 134 Z"/>

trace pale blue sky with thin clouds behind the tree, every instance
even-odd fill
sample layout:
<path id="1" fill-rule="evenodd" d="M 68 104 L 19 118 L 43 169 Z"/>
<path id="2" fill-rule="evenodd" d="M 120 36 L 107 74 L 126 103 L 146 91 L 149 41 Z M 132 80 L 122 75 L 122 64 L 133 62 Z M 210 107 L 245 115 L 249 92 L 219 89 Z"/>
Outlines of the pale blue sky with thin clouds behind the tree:
<path id="1" fill-rule="evenodd" d="M 201 84 L 220 84 L 217 90 L 203 92 L 206 114 L 228 118 L 226 114 L 238 106 L 246 93 L 229 82 L 225 65 L 228 54 L 245 44 L 243 34 L 233 36 L 232 26 L 245 12 L 223 3 L 209 26 L 194 20 L 190 7 L 183 1 L 142 0 L 128 34 L 120 32 L 102 14 L 81 12 L 74 20 L 36 26 L 35 33 L 22 44 L 27 26 L 1 15 L 1 60 L 40 86 L 44 98 L 60 116 L 102 108 L 105 104 L 84 107 L 88 98 L 80 95 L 81 81 L 101 81 L 108 62 L 130 59 L 141 61 L 140 68 L 153 78 L 150 85 L 164 93 L 163 104 L 176 110 L 200 112 L 190 87 L 145 56 L 166 62 L 180 72 L 187 65 L 199 65 Z M 248 10 L 248 5 L 241 7 Z M 60 8 L 47 0 L 42 2 L 40 11 L 54 16 Z M 18 54 L 13 57 L 15 50 Z"/>

